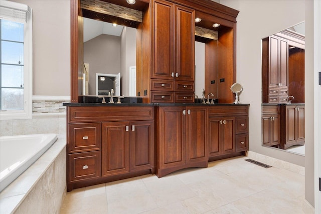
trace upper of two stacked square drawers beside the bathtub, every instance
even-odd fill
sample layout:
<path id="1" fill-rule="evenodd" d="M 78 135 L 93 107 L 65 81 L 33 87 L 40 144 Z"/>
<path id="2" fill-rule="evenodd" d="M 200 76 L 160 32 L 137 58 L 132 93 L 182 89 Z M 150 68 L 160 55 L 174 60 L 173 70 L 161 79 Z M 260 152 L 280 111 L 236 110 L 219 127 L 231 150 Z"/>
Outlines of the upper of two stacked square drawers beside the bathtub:
<path id="1" fill-rule="evenodd" d="M 69 124 L 68 132 L 68 153 L 101 149 L 100 123 Z"/>

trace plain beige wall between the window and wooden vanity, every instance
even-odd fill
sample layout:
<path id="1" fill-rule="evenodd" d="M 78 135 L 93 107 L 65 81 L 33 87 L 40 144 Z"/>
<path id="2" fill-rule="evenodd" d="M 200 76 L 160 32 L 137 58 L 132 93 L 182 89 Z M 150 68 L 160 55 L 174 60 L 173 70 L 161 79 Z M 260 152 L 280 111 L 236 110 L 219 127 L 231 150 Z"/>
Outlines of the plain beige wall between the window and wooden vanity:
<path id="1" fill-rule="evenodd" d="M 33 10 L 33 95 L 70 95 L 70 0 L 13 0 Z"/>

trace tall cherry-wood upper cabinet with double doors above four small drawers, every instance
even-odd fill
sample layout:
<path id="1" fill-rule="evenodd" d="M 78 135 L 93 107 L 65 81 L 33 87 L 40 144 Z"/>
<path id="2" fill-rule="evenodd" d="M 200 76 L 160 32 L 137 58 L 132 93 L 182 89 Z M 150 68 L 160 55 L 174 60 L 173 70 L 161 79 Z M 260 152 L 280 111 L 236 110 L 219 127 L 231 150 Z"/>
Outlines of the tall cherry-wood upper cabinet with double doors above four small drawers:
<path id="1" fill-rule="evenodd" d="M 153 66 L 150 101 L 194 102 L 194 19 L 192 9 L 152 1 Z"/>

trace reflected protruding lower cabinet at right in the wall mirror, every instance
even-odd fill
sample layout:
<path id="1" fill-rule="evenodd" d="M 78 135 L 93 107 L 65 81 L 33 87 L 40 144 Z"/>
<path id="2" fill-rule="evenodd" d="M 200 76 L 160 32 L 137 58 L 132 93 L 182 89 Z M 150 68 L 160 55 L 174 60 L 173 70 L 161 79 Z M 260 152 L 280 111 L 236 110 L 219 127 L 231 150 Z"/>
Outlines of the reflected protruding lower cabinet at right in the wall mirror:
<path id="1" fill-rule="evenodd" d="M 281 106 L 282 124 L 284 133 L 281 135 L 280 148 L 287 149 L 292 145 L 304 145 L 304 105 Z"/>

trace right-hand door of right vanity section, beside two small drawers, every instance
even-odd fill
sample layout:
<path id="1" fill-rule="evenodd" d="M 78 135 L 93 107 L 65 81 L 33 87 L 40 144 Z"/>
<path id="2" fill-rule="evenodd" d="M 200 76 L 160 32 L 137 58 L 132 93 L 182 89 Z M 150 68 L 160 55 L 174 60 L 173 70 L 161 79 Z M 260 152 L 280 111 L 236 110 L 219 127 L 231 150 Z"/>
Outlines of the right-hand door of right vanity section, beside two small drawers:
<path id="1" fill-rule="evenodd" d="M 235 119 L 223 118 L 223 154 L 235 152 Z"/>

